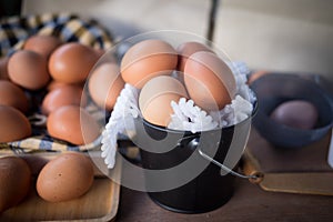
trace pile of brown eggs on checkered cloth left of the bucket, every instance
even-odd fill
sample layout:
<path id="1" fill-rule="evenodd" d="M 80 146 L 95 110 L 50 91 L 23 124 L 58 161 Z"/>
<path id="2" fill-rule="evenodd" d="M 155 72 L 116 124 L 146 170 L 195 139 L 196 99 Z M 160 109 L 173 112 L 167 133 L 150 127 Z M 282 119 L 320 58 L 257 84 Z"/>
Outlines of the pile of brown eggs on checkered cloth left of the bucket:
<path id="1" fill-rule="evenodd" d="M 0 142 L 30 137 L 28 117 L 33 112 L 48 117 L 47 130 L 53 138 L 78 145 L 95 140 L 100 127 L 83 109 L 83 87 L 102 53 L 79 42 L 32 36 L 21 50 L 1 58 Z M 37 94 L 42 94 L 38 102 Z"/>

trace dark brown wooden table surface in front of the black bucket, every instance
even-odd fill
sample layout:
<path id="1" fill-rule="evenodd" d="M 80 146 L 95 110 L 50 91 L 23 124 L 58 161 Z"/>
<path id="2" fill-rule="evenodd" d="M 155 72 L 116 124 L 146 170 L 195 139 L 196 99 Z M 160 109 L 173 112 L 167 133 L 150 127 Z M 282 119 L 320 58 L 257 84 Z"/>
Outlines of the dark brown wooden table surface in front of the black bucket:
<path id="1" fill-rule="evenodd" d="M 250 145 L 262 140 L 255 131 L 251 138 Z M 268 192 L 248 180 L 236 179 L 234 195 L 220 209 L 202 214 L 182 214 L 160 208 L 144 192 L 121 188 L 117 221 L 332 222 L 333 196 Z"/>

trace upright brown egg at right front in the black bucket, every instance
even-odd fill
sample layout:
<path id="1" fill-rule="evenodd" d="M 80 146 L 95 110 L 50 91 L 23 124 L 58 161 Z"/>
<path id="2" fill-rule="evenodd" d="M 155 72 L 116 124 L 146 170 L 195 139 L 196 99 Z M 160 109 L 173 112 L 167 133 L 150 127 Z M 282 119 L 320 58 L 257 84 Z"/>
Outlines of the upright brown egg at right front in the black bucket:
<path id="1" fill-rule="evenodd" d="M 188 59 L 184 72 L 190 98 L 205 111 L 221 110 L 235 95 L 234 75 L 216 54 L 195 52 Z"/>

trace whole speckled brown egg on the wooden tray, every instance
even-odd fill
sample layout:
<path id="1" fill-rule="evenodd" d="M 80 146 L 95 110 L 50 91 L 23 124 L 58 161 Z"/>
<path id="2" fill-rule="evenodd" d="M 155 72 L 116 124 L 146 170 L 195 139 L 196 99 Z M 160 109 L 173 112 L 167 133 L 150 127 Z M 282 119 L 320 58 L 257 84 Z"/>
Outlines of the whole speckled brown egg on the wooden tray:
<path id="1" fill-rule="evenodd" d="M 82 153 L 62 153 L 47 163 L 37 179 L 38 194 L 49 202 L 80 198 L 93 183 L 93 165 Z"/>

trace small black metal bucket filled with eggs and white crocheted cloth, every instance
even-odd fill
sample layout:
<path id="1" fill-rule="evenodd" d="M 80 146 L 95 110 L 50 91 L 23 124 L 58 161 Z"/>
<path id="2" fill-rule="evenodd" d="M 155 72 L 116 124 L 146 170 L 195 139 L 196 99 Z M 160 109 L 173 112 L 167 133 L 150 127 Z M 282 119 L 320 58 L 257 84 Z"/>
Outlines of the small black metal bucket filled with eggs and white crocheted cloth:
<path id="1" fill-rule="evenodd" d="M 253 114 L 255 111 L 256 105 Z M 161 170 L 163 174 L 164 170 L 184 162 L 194 163 L 194 168 L 186 165 L 188 174 L 195 174 L 193 179 L 183 180 L 182 185 L 171 189 L 167 185 L 161 191 L 151 191 L 149 188 L 155 184 L 163 186 L 171 180 L 181 181 L 188 176 L 183 170 L 175 170 L 160 178 L 145 174 L 150 198 L 162 208 L 180 213 L 203 213 L 225 204 L 234 191 L 234 175 L 213 162 L 223 163 L 229 169 L 238 167 L 248 142 L 251 119 L 252 117 L 233 127 L 200 133 L 169 130 L 137 119 L 134 142 L 140 148 L 144 169 Z M 208 157 L 214 159 L 213 162 Z"/>

